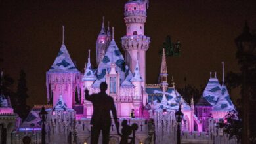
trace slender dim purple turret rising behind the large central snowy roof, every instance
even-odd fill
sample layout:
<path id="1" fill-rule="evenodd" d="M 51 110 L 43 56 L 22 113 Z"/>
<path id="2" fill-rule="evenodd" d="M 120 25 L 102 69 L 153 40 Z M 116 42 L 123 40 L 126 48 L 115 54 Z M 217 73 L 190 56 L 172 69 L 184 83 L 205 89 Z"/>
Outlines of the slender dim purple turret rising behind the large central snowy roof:
<path id="1" fill-rule="evenodd" d="M 96 41 L 96 59 L 97 59 L 97 65 L 102 61 L 105 53 L 106 48 L 110 45 L 111 41 L 111 32 L 108 22 L 108 31 L 106 31 L 104 26 L 104 17 L 102 17 L 102 27 L 100 30 L 100 33 L 98 34 L 98 38 Z"/>

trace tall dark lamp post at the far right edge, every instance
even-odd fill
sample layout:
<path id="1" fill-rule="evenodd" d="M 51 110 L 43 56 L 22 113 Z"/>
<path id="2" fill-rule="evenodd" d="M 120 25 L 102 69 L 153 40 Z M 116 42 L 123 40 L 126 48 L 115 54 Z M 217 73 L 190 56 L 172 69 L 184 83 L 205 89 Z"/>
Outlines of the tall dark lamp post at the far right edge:
<path id="1" fill-rule="evenodd" d="M 247 22 L 245 22 L 244 31 L 241 35 L 239 35 L 236 39 L 236 46 L 238 48 L 236 58 L 238 58 L 238 62 L 241 67 L 241 78 L 242 78 L 242 111 L 243 111 L 243 134 L 242 134 L 242 143 L 249 143 L 249 115 L 251 115 L 250 105 L 252 105 L 252 99 L 249 96 L 250 87 L 253 87 L 255 81 L 251 79 L 250 69 L 253 69 L 253 65 L 256 63 L 256 37 L 249 31 L 249 27 L 247 26 Z M 253 117 L 253 116 L 252 116 Z"/>

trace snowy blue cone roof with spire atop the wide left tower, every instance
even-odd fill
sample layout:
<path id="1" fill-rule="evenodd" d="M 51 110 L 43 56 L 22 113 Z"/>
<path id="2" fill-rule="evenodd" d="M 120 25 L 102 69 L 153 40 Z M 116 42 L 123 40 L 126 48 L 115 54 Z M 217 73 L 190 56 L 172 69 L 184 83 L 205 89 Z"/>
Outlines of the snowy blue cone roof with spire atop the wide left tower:
<path id="1" fill-rule="evenodd" d="M 63 39 L 62 45 L 60 47 L 60 51 L 58 52 L 58 56 L 55 58 L 53 65 L 49 69 L 48 73 L 69 73 L 69 72 L 79 72 L 75 67 L 72 59 L 70 58 L 70 54 L 64 44 L 64 26 L 63 26 Z"/>

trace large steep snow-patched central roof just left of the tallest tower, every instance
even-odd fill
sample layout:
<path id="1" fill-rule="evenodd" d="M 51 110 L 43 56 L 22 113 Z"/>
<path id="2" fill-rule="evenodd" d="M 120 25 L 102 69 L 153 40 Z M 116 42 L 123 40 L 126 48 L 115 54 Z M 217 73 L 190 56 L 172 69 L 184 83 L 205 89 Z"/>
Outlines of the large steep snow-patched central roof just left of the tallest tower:
<path id="1" fill-rule="evenodd" d="M 114 31 L 112 31 L 112 41 L 110 42 L 110 45 L 108 46 L 106 50 L 106 54 L 98 65 L 98 71 L 97 76 L 98 80 L 95 81 L 93 84 L 93 87 L 98 87 L 98 83 L 104 82 L 106 79 L 106 73 L 110 71 L 110 65 L 111 63 L 114 63 L 116 65 L 116 71 L 120 74 L 120 83 L 122 84 L 125 79 L 127 81 L 130 81 L 130 79 L 133 77 L 131 75 L 131 71 L 129 67 L 125 64 L 125 60 L 123 58 L 123 55 L 121 54 L 119 48 L 116 45 L 116 42 L 114 41 Z"/>

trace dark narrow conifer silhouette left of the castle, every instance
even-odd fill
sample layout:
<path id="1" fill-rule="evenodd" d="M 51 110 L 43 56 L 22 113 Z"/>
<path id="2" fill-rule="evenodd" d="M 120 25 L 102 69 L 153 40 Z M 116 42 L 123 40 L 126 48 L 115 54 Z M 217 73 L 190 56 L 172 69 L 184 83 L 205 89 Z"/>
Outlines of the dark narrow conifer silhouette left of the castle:
<path id="1" fill-rule="evenodd" d="M 18 88 L 16 92 L 16 113 L 24 120 L 30 111 L 30 107 L 27 105 L 27 99 L 29 98 L 26 81 L 26 73 L 21 70 L 20 71 L 20 79 L 18 80 Z"/>

